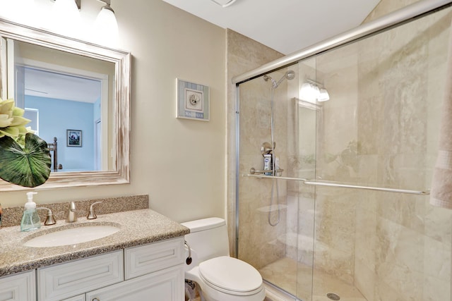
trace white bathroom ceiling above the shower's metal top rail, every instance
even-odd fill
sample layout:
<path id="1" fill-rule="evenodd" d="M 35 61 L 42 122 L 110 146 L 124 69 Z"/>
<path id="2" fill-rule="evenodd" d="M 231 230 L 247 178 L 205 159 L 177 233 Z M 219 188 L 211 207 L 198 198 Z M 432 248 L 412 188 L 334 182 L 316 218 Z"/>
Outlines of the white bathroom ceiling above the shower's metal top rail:
<path id="1" fill-rule="evenodd" d="M 291 54 L 359 26 L 380 0 L 236 0 L 225 8 L 211 0 L 163 1 Z"/>

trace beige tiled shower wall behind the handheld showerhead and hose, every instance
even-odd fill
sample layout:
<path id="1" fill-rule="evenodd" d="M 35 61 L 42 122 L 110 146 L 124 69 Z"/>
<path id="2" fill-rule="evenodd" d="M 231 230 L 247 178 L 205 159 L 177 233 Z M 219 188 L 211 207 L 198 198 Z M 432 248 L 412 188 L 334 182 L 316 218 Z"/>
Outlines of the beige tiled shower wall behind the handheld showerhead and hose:
<path id="1" fill-rule="evenodd" d="M 279 80 L 285 70 L 271 73 Z M 263 169 L 261 145 L 271 142 L 270 136 L 270 87 L 271 82 L 257 78 L 245 82 L 240 89 L 240 174 L 249 173 L 251 167 Z M 287 82 L 274 90 L 275 154 L 280 159 L 280 166 L 287 166 Z M 278 185 L 278 188 L 276 187 Z M 277 200 L 277 196 L 279 197 Z M 287 183 L 285 180 L 272 180 L 240 177 L 239 186 L 239 258 L 260 269 L 276 259 L 285 257 L 286 199 Z M 270 226 L 270 221 L 278 221 L 280 204 L 280 221 Z M 270 204 L 272 204 L 270 206 Z M 242 243 L 241 243 L 242 242 Z"/>

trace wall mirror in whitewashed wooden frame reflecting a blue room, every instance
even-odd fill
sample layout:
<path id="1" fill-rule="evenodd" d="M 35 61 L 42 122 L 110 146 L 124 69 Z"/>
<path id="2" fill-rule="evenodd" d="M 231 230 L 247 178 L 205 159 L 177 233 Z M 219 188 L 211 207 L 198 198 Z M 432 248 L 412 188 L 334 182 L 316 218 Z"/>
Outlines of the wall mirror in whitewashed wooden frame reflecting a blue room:
<path id="1" fill-rule="evenodd" d="M 0 28 L 0 96 L 25 109 L 52 154 L 37 189 L 129 183 L 130 53 L 7 20 Z M 23 189 L 0 180 L 0 191 Z"/>

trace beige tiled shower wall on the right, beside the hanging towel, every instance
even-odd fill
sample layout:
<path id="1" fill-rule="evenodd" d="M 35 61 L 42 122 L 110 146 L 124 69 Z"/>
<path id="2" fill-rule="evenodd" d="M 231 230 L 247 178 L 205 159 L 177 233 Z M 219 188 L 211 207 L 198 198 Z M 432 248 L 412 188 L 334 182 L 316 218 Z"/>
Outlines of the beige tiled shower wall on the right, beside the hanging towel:
<path id="1" fill-rule="evenodd" d="M 431 185 L 451 17 L 448 8 L 359 47 L 359 160 L 376 183 Z M 422 196 L 361 196 L 355 282 L 367 300 L 451 300 L 451 210 Z"/>

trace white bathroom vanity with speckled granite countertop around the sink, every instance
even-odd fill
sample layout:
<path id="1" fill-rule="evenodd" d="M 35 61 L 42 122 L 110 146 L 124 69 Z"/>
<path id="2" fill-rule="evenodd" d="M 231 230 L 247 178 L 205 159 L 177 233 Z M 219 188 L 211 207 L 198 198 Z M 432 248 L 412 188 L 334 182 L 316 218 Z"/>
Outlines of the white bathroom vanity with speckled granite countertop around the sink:
<path id="1" fill-rule="evenodd" d="M 26 247 L 67 228 L 115 225 L 117 233 L 76 245 Z M 0 300 L 184 300 L 189 229 L 150 209 L 58 221 L 29 233 L 1 229 Z"/>

